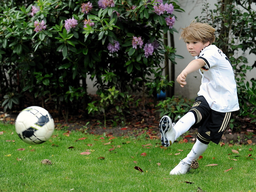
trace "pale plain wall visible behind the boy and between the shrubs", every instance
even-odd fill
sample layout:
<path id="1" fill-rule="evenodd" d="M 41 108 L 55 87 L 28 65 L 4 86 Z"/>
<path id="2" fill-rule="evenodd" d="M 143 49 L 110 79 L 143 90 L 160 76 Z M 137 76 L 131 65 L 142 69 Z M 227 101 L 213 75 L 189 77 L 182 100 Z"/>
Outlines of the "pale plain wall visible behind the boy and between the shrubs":
<path id="1" fill-rule="evenodd" d="M 177 17 L 174 27 L 179 32 L 174 33 L 174 44 L 177 51 L 176 54 L 184 57 L 184 59 L 176 59 L 177 65 L 175 65 L 175 79 L 187 66 L 187 64 L 194 59 L 194 57 L 188 53 L 185 42 L 183 42 L 182 39 L 179 40 L 181 28 L 189 26 L 195 17 L 201 16 L 204 2 L 204 0 L 179 0 L 179 5 L 183 10 L 185 10 L 185 12 L 174 13 Z M 208 0 L 208 3 L 210 4 L 210 9 L 215 9 L 216 7 L 214 4 L 217 3 L 217 0 Z M 248 55 L 248 52 L 249 51 L 247 51 L 244 56 L 248 58 L 248 65 L 252 66 L 254 61 L 256 61 L 256 56 L 254 54 Z M 256 78 L 255 74 L 256 68 L 254 67 L 251 72 L 247 72 L 247 79 L 249 80 L 253 77 Z M 95 94 L 97 89 L 93 88 L 93 83 L 89 77 L 87 77 L 86 81 L 88 84 L 88 92 L 90 94 Z M 199 86 L 201 85 L 201 75 L 199 72 L 191 73 L 186 78 L 186 81 L 187 85 L 184 88 L 180 87 L 177 82 L 175 83 L 175 95 L 181 95 L 182 97 L 193 99 L 197 96 L 197 92 L 199 91 Z"/>

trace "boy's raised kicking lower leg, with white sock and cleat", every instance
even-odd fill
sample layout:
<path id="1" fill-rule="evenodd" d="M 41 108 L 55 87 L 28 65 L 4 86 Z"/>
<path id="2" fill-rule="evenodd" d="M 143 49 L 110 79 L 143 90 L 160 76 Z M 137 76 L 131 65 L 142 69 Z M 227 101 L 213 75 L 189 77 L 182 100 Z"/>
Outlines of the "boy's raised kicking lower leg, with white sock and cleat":
<path id="1" fill-rule="evenodd" d="M 163 116 L 159 123 L 161 133 L 161 143 L 164 147 L 169 147 L 183 133 L 186 133 L 195 123 L 194 113 L 188 112 L 175 125 L 170 117 Z"/>

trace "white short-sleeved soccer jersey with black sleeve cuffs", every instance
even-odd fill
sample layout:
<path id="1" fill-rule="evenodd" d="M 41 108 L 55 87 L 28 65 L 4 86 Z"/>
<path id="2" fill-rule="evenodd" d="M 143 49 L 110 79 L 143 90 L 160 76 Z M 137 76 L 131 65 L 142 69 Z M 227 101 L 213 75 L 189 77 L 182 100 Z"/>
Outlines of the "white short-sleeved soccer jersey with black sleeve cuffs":
<path id="1" fill-rule="evenodd" d="M 209 45 L 195 59 L 205 62 L 199 70 L 202 80 L 198 96 L 204 96 L 212 110 L 239 110 L 233 67 L 226 55 L 215 45 Z"/>

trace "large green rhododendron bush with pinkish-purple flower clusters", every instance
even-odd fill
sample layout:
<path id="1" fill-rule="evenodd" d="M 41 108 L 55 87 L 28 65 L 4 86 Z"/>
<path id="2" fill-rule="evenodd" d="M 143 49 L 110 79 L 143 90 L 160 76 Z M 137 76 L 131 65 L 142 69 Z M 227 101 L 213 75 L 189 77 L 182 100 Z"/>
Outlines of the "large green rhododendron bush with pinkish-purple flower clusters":
<path id="1" fill-rule="evenodd" d="M 173 11 L 183 11 L 176 2 L 12 2 L 17 7 L 5 0 L 0 6 L 1 73 L 19 83 L 1 83 L 1 91 L 30 91 L 54 100 L 66 114 L 81 103 L 86 107 L 86 76 L 96 79 L 98 94 L 113 86 L 120 93 L 141 91 L 164 54 L 175 55 L 162 38 L 176 32 Z"/>

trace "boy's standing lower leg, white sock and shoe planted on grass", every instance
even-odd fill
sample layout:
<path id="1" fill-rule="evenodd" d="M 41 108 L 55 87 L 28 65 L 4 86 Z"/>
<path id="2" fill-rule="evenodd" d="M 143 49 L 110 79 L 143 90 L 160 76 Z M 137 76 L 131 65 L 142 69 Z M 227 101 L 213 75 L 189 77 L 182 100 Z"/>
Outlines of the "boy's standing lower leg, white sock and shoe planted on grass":
<path id="1" fill-rule="evenodd" d="M 186 174 L 189 172 L 191 162 L 194 159 L 198 159 L 198 157 L 204 153 L 204 151 L 207 149 L 208 144 L 201 143 L 199 140 L 196 140 L 192 150 L 187 155 L 186 158 L 180 161 L 180 163 L 170 171 L 170 175 L 181 175 Z"/>

